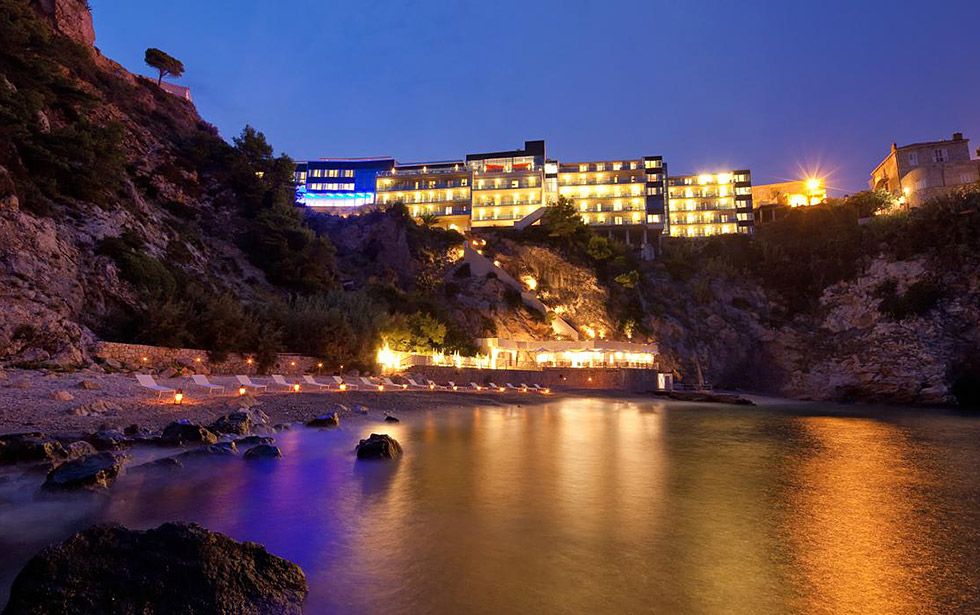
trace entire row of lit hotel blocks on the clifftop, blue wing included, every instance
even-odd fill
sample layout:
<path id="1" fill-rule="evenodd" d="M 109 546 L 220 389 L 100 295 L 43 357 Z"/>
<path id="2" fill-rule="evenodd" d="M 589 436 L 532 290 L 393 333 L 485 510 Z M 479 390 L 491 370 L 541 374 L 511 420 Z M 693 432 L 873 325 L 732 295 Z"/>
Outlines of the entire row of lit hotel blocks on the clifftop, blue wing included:
<path id="1" fill-rule="evenodd" d="M 752 232 L 747 170 L 668 178 L 662 156 L 559 162 L 547 157 L 544 141 L 449 161 L 310 161 L 297 167 L 296 181 L 301 205 L 344 215 L 403 203 L 416 218 L 462 232 L 523 228 L 559 197 L 569 199 L 587 225 L 628 244 L 647 246 L 663 233 Z"/>

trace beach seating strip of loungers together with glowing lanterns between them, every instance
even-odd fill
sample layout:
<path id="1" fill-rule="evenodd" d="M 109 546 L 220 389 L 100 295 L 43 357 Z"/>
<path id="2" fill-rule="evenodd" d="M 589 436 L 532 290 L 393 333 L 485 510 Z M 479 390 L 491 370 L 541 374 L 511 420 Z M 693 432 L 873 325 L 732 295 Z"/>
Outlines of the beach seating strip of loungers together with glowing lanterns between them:
<path id="1" fill-rule="evenodd" d="M 505 386 L 498 386 L 492 382 L 478 384 L 469 382 L 457 384 L 453 381 L 438 383 L 428 378 L 421 378 L 417 375 L 405 374 L 403 376 L 329 376 L 324 380 L 317 380 L 313 375 L 306 374 L 299 380 L 287 380 L 282 374 L 270 374 L 267 381 L 259 381 L 258 377 L 236 375 L 232 382 L 230 376 L 226 376 L 227 384 L 219 383 L 208 376 L 195 374 L 187 378 L 186 387 L 173 388 L 157 384 L 153 376 L 149 374 L 136 374 L 137 384 L 148 391 L 152 391 L 157 398 L 174 396 L 176 403 L 182 403 L 187 397 L 188 392 L 200 392 L 203 396 L 212 395 L 257 395 L 261 393 L 344 393 L 346 391 L 374 391 L 378 393 L 398 392 L 398 391 L 454 391 L 459 393 L 466 392 L 511 392 L 511 393 L 540 393 L 547 395 L 551 389 L 539 384 L 519 384 L 505 383 Z"/>

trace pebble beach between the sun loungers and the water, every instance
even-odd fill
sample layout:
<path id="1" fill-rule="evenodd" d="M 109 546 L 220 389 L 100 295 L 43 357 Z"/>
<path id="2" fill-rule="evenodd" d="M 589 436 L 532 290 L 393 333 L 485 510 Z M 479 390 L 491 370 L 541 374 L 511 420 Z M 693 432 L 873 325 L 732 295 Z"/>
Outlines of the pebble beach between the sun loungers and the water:
<path id="1" fill-rule="evenodd" d="M 226 393 L 209 396 L 187 378 L 158 378 L 158 384 L 184 391 L 183 403 L 177 406 L 172 396 L 158 399 L 152 391 L 139 387 L 132 375 L 84 370 L 72 373 L 0 372 L 0 434 L 23 431 L 80 433 L 103 428 L 121 429 L 133 424 L 158 430 L 180 418 L 208 424 L 240 406 L 233 376 L 212 376 L 210 379 L 214 384 L 224 385 Z M 266 379 L 257 381 L 264 383 Z M 435 406 L 534 404 L 555 397 L 539 393 L 476 391 L 320 393 L 304 390 L 300 393 L 263 393 L 256 399 L 258 407 L 269 415 L 271 423 L 276 424 L 309 420 L 330 411 L 336 403 L 361 404 L 372 411 L 397 415 Z"/>

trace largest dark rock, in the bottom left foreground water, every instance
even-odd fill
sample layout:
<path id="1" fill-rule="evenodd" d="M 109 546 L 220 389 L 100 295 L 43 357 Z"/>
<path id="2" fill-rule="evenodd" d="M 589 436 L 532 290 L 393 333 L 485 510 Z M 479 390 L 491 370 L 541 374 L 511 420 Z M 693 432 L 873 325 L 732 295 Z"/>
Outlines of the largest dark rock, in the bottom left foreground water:
<path id="1" fill-rule="evenodd" d="M 296 564 L 196 524 L 96 526 L 34 556 L 4 612 L 298 615 L 308 591 Z"/>

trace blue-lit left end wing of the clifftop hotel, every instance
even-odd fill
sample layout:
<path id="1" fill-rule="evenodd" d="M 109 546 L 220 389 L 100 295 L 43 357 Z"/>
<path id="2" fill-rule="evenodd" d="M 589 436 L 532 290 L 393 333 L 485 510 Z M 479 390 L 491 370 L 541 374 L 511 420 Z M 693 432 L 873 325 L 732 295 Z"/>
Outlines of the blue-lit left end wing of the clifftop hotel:
<path id="1" fill-rule="evenodd" d="M 373 205 L 379 173 L 390 171 L 395 159 L 322 158 L 296 165 L 296 203 L 335 213 L 352 213 Z"/>

